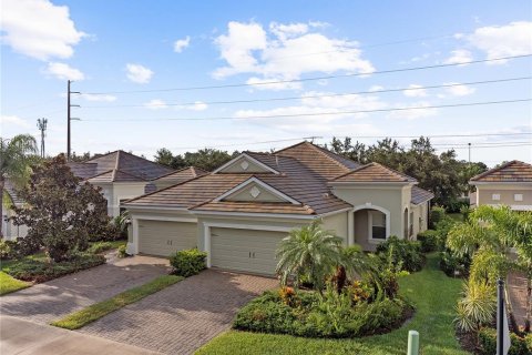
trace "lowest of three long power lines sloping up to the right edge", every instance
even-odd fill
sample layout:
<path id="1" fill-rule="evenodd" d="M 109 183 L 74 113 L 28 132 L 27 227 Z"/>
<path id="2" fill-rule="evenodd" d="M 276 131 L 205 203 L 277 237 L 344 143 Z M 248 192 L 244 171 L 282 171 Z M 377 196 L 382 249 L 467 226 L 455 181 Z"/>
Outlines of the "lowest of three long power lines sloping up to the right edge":
<path id="1" fill-rule="evenodd" d="M 503 104 L 503 103 L 518 103 L 518 102 L 529 102 L 529 101 L 532 101 L 532 99 L 515 99 L 515 100 L 502 100 L 502 101 L 453 103 L 453 104 L 395 108 L 395 109 L 313 112 L 313 113 L 296 113 L 296 114 L 272 114 L 272 115 L 247 115 L 247 116 L 211 116 L 211 118 L 203 118 L 203 119 L 192 119 L 192 118 L 136 119 L 136 120 L 104 119 L 104 120 L 83 120 L 83 121 L 85 121 L 85 122 L 86 121 L 92 121 L 92 122 L 102 122 L 102 121 L 105 121 L 105 122 L 109 122 L 109 121 L 141 122 L 141 121 L 218 121 L 218 120 L 276 119 L 276 118 L 318 116 L 318 115 L 357 114 L 357 113 L 374 113 L 374 112 L 393 112 L 393 111 L 427 110 L 427 109 L 448 109 L 448 108 L 463 108 L 463 106 L 477 106 L 477 105 L 490 105 L 490 104 Z"/>

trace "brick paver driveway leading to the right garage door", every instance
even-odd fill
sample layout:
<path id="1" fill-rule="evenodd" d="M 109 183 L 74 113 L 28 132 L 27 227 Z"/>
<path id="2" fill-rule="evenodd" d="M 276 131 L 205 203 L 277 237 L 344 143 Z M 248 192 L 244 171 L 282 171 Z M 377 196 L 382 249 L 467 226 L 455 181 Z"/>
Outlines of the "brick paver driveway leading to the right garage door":
<path id="1" fill-rule="evenodd" d="M 277 280 L 206 270 L 80 332 L 164 354 L 191 354 L 227 329 L 236 311 Z"/>

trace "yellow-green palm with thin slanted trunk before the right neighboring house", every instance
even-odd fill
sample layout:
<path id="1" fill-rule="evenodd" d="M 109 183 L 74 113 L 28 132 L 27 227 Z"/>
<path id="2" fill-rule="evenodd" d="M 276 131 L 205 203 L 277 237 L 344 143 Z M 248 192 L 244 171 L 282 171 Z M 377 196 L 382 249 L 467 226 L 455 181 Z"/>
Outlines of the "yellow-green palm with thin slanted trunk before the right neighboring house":
<path id="1" fill-rule="evenodd" d="M 494 287 L 499 277 L 507 278 L 518 264 L 511 255 L 515 245 L 516 214 L 509 206 L 482 205 L 475 209 L 467 222 L 456 224 L 449 232 L 448 247 L 459 255 L 472 256 L 470 281 L 487 282 Z M 507 310 L 511 327 L 518 326 L 512 305 L 504 286 Z"/>

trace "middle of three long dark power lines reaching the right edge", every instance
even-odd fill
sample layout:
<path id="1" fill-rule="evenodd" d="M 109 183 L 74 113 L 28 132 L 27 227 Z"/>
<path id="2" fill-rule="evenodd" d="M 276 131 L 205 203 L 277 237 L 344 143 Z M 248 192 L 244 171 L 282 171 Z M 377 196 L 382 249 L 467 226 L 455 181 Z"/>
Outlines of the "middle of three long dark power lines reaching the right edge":
<path id="1" fill-rule="evenodd" d="M 461 85 L 481 85 L 490 83 L 500 83 L 509 81 L 520 81 L 520 80 L 530 80 L 532 77 L 521 77 L 521 78 L 508 78 L 508 79 L 494 79 L 494 80 L 483 80 L 483 81 L 470 81 L 462 83 L 449 83 L 440 85 L 427 85 L 419 88 L 400 88 L 400 89 L 386 89 L 377 91 L 357 91 L 357 92 L 347 92 L 347 93 L 331 93 L 331 94 L 319 94 L 319 95 L 303 95 L 303 97 L 285 97 L 285 98 L 270 98 L 270 99 L 250 99 L 250 100 L 233 100 L 233 101 L 202 101 L 202 104 L 232 104 L 232 103 L 250 103 L 250 102 L 272 102 L 272 101 L 288 101 L 288 100 L 305 100 L 305 99 L 320 99 L 320 98 L 337 98 L 337 97 L 349 97 L 358 94 L 380 94 L 386 92 L 402 92 L 402 91 L 415 91 L 415 90 L 427 90 L 427 89 L 442 89 L 442 88 L 453 88 Z M 196 102 L 184 102 L 184 103 L 154 103 L 150 106 L 190 106 L 197 104 Z M 114 108 L 146 108 L 146 104 L 117 104 L 117 105 L 83 105 L 83 109 L 114 109 Z"/>

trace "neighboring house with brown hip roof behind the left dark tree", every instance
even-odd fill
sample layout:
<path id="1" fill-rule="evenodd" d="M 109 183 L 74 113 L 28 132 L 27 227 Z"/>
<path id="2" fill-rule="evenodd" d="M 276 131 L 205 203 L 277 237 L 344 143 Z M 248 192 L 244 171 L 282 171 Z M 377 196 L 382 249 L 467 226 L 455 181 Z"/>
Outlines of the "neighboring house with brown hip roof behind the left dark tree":
<path id="1" fill-rule="evenodd" d="M 120 215 L 120 204 L 145 193 L 146 185 L 175 171 L 124 151 L 115 151 L 82 163 L 69 162 L 74 175 L 102 187 L 110 216 Z"/>

